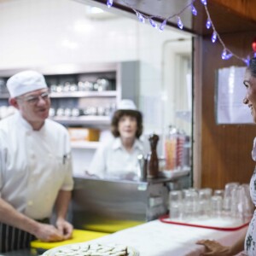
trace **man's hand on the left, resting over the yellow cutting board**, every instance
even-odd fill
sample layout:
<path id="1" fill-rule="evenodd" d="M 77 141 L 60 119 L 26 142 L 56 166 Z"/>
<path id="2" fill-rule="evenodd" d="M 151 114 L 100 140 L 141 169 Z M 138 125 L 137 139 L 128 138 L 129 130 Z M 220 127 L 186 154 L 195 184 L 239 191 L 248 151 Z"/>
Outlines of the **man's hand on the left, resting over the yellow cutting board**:
<path id="1" fill-rule="evenodd" d="M 34 234 L 40 241 L 63 241 L 64 237 L 55 226 L 50 224 L 39 224 Z"/>

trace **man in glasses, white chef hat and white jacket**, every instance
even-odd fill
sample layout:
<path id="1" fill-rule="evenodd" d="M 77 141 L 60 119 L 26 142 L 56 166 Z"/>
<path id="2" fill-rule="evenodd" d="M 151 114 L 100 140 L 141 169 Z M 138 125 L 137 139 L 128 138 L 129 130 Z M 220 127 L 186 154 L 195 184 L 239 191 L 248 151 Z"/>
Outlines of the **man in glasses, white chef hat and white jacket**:
<path id="1" fill-rule="evenodd" d="M 7 81 L 16 113 L 0 121 L 0 252 L 29 247 L 30 241 L 70 238 L 66 220 L 73 189 L 66 129 L 48 119 L 44 76 L 35 71 Z M 49 224 L 55 207 L 55 224 Z"/>

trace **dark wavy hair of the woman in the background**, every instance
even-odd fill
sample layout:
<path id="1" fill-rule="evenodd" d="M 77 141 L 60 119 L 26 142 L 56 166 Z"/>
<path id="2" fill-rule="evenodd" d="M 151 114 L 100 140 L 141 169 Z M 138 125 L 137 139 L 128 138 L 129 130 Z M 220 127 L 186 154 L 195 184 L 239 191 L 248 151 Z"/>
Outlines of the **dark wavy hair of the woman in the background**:
<path id="1" fill-rule="evenodd" d="M 111 131 L 113 134 L 113 137 L 119 137 L 119 120 L 123 116 L 131 116 L 135 117 L 137 120 L 137 131 L 136 131 L 136 137 L 139 138 L 143 134 L 143 114 L 136 110 L 124 110 L 119 109 L 115 113 L 113 113 L 113 118 L 111 121 Z"/>

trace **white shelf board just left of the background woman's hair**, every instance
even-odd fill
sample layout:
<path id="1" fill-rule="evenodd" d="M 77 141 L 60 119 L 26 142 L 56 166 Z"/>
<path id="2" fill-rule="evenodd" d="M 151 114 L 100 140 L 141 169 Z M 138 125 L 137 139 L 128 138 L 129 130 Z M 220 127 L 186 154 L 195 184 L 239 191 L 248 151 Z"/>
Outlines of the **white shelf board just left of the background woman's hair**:
<path id="1" fill-rule="evenodd" d="M 63 125 L 110 125 L 109 116 L 86 115 L 79 117 L 53 117 Z"/>

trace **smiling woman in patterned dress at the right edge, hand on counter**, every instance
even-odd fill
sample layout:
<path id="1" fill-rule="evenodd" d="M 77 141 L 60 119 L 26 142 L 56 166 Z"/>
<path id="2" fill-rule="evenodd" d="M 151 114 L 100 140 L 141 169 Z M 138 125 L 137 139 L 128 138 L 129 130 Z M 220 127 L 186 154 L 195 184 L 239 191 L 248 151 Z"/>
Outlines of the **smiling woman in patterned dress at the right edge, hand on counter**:
<path id="1" fill-rule="evenodd" d="M 243 99 L 243 103 L 247 104 L 251 109 L 253 116 L 253 122 L 256 123 L 256 58 L 253 58 L 249 61 L 249 65 L 246 69 L 244 76 L 243 84 L 246 87 L 247 94 Z M 256 161 L 256 137 L 253 141 L 253 151 L 252 151 L 253 160 Z M 251 177 L 250 182 L 250 194 L 253 201 L 253 204 L 256 205 L 256 166 Z M 212 255 L 212 256 L 228 256 L 236 255 L 242 250 L 245 251 L 245 254 L 240 255 L 255 256 L 256 255 L 256 211 L 253 214 L 253 218 L 248 226 L 247 233 L 244 236 L 236 241 L 230 247 L 224 247 L 219 244 L 218 241 L 211 240 L 201 240 L 197 242 L 198 244 L 204 245 L 207 247 L 207 253 L 201 255 Z"/>

